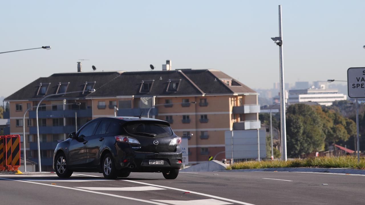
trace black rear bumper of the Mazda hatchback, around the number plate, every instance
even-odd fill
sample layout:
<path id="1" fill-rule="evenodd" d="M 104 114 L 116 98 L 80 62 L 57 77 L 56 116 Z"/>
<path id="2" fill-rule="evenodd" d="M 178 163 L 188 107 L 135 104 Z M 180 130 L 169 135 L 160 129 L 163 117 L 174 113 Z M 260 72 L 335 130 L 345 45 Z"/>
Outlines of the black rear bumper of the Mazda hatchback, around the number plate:
<path id="1" fill-rule="evenodd" d="M 138 152 L 130 151 L 118 155 L 116 168 L 131 172 L 159 172 L 169 169 L 181 168 L 182 152 L 181 146 L 177 146 L 175 152 Z M 149 160 L 163 160 L 163 165 L 150 165 Z M 180 160 L 180 162 L 179 162 Z"/>

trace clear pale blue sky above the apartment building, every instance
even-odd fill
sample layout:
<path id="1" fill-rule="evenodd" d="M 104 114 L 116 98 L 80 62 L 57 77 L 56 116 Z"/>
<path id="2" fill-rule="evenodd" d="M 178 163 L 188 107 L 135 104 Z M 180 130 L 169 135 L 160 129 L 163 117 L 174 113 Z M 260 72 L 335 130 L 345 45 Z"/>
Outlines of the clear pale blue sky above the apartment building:
<path id="1" fill-rule="evenodd" d="M 365 1 L 3 1 L 0 96 L 76 71 L 218 69 L 251 88 L 278 82 L 278 5 L 285 81 L 346 80 L 365 66 Z"/>

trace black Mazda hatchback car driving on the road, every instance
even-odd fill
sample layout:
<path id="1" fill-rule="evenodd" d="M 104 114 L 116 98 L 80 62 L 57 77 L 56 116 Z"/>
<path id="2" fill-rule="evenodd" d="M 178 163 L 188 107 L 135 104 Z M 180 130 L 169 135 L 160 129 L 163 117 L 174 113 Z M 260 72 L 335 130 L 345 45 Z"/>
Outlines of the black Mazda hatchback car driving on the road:
<path id="1" fill-rule="evenodd" d="M 78 171 L 103 173 L 107 179 L 161 172 L 166 179 L 175 179 L 182 164 L 180 144 L 166 121 L 100 117 L 57 144 L 53 169 L 61 178 Z"/>

